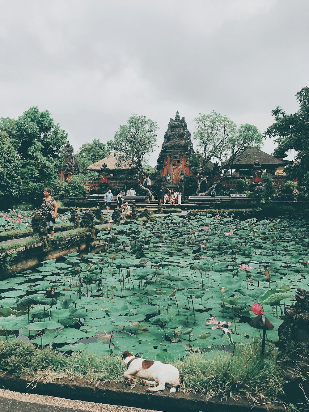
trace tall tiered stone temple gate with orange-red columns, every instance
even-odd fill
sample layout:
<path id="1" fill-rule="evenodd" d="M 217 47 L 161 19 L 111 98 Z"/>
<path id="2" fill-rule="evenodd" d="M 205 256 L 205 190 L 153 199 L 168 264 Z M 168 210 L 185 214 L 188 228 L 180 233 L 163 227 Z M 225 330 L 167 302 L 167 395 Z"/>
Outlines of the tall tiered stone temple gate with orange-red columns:
<path id="1" fill-rule="evenodd" d="M 171 176 L 171 183 L 180 183 L 180 174 L 192 175 L 189 157 L 193 151 L 191 133 L 187 129 L 185 118 L 180 119 L 176 112 L 171 117 L 164 134 L 164 142 L 158 157 L 157 171 L 159 176 Z"/>

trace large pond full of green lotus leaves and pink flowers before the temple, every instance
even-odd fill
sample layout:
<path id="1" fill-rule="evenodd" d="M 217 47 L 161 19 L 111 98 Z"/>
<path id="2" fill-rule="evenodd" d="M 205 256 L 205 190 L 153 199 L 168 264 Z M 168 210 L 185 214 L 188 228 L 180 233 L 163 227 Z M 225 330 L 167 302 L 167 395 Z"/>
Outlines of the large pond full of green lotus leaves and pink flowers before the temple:
<path id="1" fill-rule="evenodd" d="M 308 222 L 166 216 L 98 234 L 101 250 L 42 262 L 0 281 L 2 339 L 98 355 L 128 349 L 164 360 L 260 339 L 308 288 Z"/>

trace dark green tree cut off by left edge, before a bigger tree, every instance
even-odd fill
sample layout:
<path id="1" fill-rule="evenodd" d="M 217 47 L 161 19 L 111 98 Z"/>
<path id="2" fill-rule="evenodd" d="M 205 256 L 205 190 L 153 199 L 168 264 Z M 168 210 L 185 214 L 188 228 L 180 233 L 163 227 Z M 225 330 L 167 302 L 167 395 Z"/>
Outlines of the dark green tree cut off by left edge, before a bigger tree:
<path id="1" fill-rule="evenodd" d="M 21 178 L 18 174 L 16 150 L 6 132 L 0 131 L 0 203 L 11 206 L 20 195 Z"/>

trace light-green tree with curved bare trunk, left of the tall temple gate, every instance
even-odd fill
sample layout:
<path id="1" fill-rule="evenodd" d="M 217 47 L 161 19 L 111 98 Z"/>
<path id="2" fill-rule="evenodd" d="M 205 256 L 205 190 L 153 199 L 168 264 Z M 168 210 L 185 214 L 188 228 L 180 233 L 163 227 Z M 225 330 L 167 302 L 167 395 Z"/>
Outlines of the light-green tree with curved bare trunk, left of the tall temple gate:
<path id="1" fill-rule="evenodd" d="M 144 115 L 133 114 L 129 117 L 127 124 L 119 126 L 114 140 L 108 142 L 119 165 L 127 164 L 133 168 L 133 177 L 152 200 L 154 197 L 151 190 L 144 187 L 139 178 L 143 173 L 146 155 L 152 153 L 154 147 L 157 147 L 157 129 L 158 125 L 154 120 L 147 119 Z"/>

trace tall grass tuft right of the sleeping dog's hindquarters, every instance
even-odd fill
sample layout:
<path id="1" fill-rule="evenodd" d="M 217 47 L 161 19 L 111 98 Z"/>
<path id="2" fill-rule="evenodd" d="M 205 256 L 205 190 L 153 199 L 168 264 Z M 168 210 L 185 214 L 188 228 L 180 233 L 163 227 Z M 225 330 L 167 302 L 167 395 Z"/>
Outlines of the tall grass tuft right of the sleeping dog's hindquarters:
<path id="1" fill-rule="evenodd" d="M 185 392 L 212 396 L 246 397 L 258 401 L 283 393 L 275 359 L 262 358 L 260 345 L 235 347 L 234 355 L 223 351 L 191 354 L 178 361 Z"/>

